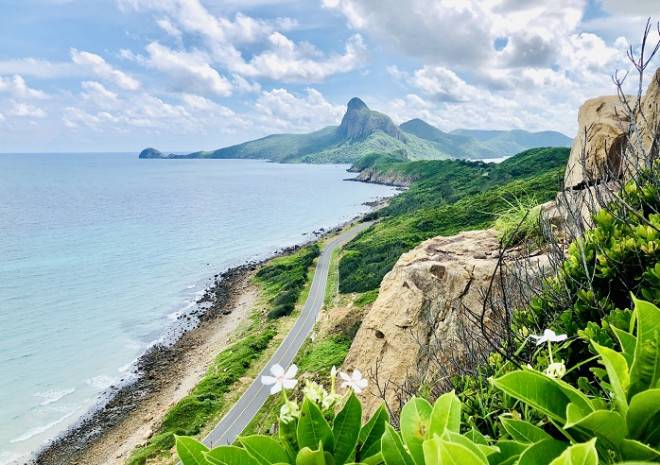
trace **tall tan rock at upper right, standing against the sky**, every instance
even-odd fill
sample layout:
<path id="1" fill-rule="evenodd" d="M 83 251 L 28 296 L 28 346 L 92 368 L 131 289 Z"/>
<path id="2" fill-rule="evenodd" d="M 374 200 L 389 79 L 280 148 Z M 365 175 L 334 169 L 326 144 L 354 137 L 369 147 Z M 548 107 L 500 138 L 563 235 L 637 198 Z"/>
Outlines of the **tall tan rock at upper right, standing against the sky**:
<path id="1" fill-rule="evenodd" d="M 568 158 L 564 188 L 594 184 L 608 172 L 618 176 L 621 150 L 630 128 L 630 118 L 619 97 L 587 100 L 578 113 L 578 128 Z"/>

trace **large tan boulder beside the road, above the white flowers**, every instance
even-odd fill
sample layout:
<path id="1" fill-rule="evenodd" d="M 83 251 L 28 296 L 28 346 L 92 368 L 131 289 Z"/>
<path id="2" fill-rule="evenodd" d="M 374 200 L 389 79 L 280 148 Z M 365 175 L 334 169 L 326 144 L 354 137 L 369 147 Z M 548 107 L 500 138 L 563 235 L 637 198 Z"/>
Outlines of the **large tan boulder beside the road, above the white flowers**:
<path id="1" fill-rule="evenodd" d="M 498 247 L 494 230 L 436 237 L 403 254 L 385 276 L 344 362 L 344 369 L 359 369 L 371 378 L 362 394 L 365 414 L 381 402 L 378 386 L 382 390 L 388 384 L 386 400 L 397 408 L 396 386 L 428 369 L 429 350 L 440 358 L 451 353 L 452 364 L 468 362 L 467 352 L 482 340 L 466 308 L 482 308 Z M 438 342 L 446 352 L 436 350 Z M 452 364 L 447 361 L 450 371 Z"/>

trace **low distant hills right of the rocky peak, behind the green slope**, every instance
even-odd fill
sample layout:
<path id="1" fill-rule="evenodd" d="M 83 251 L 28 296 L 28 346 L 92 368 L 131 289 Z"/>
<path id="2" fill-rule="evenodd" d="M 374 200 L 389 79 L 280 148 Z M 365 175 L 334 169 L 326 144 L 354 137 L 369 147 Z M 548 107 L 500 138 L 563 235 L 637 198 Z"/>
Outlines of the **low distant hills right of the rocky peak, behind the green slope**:
<path id="1" fill-rule="evenodd" d="M 456 129 L 452 135 L 468 136 L 477 139 L 484 146 L 500 155 L 515 155 L 531 147 L 570 147 L 573 139 L 561 132 L 529 132 L 521 129 L 511 131 Z"/>

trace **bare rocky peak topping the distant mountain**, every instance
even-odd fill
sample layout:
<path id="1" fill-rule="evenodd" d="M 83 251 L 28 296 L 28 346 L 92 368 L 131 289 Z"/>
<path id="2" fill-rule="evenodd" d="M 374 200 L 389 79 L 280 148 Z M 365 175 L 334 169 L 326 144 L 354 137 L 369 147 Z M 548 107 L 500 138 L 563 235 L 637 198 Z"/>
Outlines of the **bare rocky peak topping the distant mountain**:
<path id="1" fill-rule="evenodd" d="M 337 135 L 342 139 L 364 139 L 376 131 L 382 131 L 402 142 L 407 141 L 403 131 L 389 116 L 370 110 L 362 100 L 353 97 L 348 102 L 346 113 L 337 128 Z"/>

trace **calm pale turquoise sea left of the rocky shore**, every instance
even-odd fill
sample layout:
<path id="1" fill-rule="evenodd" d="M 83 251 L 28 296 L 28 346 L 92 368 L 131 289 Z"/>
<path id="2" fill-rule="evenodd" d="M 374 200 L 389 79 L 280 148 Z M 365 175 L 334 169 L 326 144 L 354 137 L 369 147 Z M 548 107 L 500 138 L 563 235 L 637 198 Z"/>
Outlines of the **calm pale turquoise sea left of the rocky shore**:
<path id="1" fill-rule="evenodd" d="M 346 168 L 0 154 L 0 465 L 126 380 L 215 274 L 394 193 Z"/>

